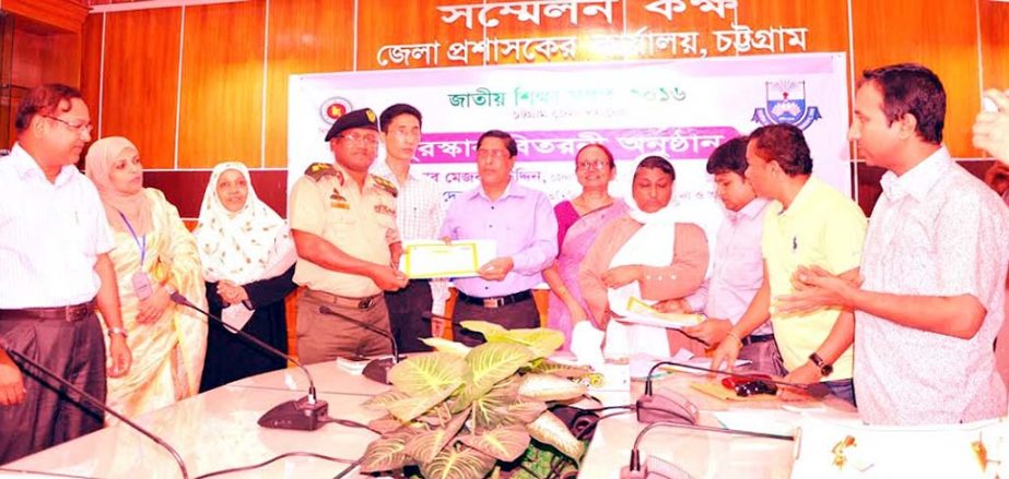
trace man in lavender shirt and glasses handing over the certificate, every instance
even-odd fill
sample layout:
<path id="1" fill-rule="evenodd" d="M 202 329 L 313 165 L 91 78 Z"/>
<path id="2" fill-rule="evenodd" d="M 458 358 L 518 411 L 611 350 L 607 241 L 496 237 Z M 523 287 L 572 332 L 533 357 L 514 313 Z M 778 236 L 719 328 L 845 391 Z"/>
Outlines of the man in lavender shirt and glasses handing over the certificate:
<path id="1" fill-rule="evenodd" d="M 445 240 L 493 239 L 497 256 L 480 266 L 479 277 L 455 279 L 459 290 L 453 311 L 453 337 L 465 345 L 483 343 L 459 322 L 482 320 L 506 328 L 538 327 L 532 287 L 558 255 L 558 220 L 543 193 L 512 178 L 518 147 L 508 133 L 491 130 L 477 141 L 480 185 L 456 196 L 445 215 Z"/>

